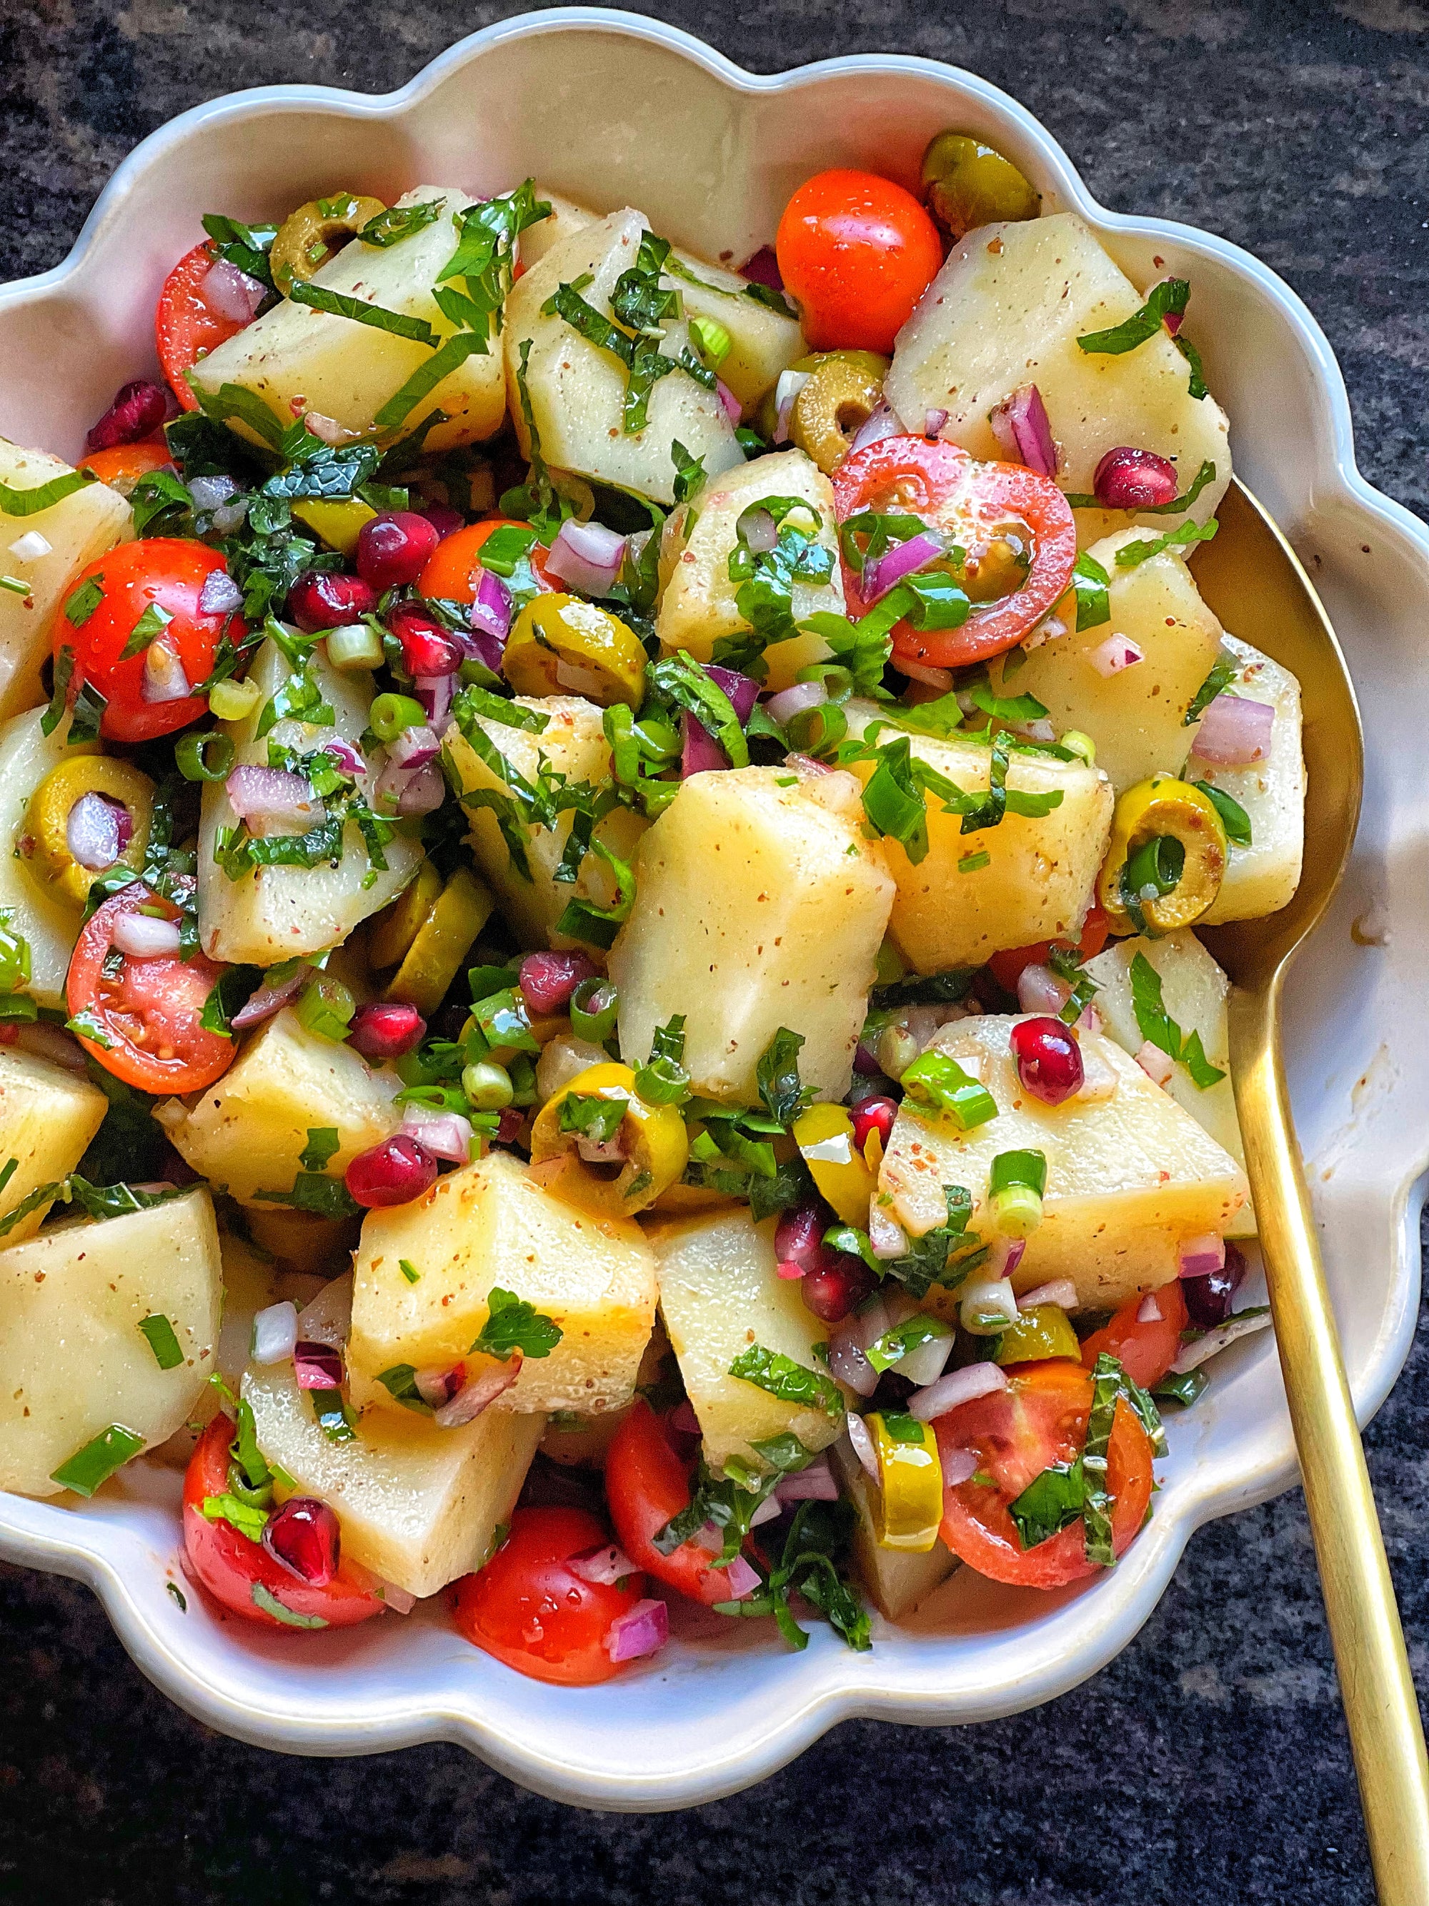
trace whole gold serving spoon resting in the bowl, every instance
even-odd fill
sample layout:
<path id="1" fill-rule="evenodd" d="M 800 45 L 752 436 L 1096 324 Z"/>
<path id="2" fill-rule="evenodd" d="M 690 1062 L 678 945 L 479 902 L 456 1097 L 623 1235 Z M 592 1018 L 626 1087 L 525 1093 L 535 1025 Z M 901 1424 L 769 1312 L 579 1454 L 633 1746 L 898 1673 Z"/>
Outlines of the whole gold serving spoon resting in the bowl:
<path id="1" fill-rule="evenodd" d="M 1404 1632 L 1364 1468 L 1280 1064 L 1280 987 L 1339 886 L 1364 785 L 1364 736 L 1339 642 L 1261 503 L 1233 480 L 1197 553 L 1206 602 L 1298 679 L 1305 715 L 1305 871 L 1280 913 L 1214 928 L 1231 974 L 1231 1069 L 1275 1342 L 1305 1481 L 1339 1693 L 1381 1906 L 1429 1906 L 1429 1763 Z"/>

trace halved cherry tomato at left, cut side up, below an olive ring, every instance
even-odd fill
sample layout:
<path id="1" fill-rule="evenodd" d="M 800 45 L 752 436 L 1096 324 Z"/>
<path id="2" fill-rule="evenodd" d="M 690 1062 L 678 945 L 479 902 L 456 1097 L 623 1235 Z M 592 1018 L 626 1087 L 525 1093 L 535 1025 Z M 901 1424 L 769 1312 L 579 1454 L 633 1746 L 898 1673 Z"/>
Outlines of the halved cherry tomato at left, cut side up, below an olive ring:
<path id="1" fill-rule="evenodd" d="M 65 999 L 70 1018 L 84 1014 L 95 1037 L 80 1037 L 91 1058 L 141 1092 L 198 1092 L 232 1065 L 236 1043 L 200 1025 L 208 995 L 223 972 L 194 953 L 160 953 L 152 959 L 122 955 L 118 978 L 105 974 L 114 942 L 114 923 L 137 907 L 158 907 L 177 921 L 179 909 L 154 900 L 135 881 L 111 894 L 80 928 L 70 955 Z M 101 1044 L 101 1039 L 107 1041 Z"/>

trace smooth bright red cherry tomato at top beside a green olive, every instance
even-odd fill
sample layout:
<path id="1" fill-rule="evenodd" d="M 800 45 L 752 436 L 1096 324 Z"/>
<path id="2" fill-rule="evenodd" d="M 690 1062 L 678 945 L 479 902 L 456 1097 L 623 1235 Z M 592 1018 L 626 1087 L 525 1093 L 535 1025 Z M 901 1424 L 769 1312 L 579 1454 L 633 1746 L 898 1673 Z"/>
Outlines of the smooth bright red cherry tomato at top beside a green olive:
<path id="1" fill-rule="evenodd" d="M 783 210 L 775 250 L 815 351 L 888 355 L 943 265 L 934 221 L 876 172 L 806 179 Z"/>

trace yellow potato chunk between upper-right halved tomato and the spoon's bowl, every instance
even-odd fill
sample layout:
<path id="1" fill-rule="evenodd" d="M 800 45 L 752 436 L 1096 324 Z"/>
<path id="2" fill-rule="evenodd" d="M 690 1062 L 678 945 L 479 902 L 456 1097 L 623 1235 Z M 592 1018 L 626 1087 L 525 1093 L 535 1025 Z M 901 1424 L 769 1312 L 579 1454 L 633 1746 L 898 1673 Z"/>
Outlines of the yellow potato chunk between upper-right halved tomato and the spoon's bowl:
<path id="1" fill-rule="evenodd" d="M 1057 734 L 1090 734 L 1117 793 L 1153 774 L 1181 772 L 1200 726 L 1187 726 L 1185 713 L 1221 646 L 1221 625 L 1177 555 L 1162 551 L 1134 570 L 1117 568 L 1117 551 L 1139 541 L 1145 530 L 1118 530 L 1088 551 L 1111 578 L 1111 621 L 1078 633 L 1077 610 L 1063 602 L 1065 635 L 1033 648 L 1014 675 L 1004 675 L 1006 656 L 989 671 L 995 694 L 1037 696 Z M 1090 658 L 1113 635 L 1136 642 L 1145 659 L 1103 677 Z"/>

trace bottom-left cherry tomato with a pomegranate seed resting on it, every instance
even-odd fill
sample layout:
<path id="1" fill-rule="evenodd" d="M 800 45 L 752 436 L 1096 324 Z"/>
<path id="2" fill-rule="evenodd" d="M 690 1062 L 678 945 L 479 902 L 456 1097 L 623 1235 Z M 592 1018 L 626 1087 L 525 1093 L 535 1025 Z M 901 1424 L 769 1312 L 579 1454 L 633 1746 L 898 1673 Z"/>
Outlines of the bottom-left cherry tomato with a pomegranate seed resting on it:
<path id="1" fill-rule="evenodd" d="M 232 1523 L 211 1523 L 204 1515 L 204 1498 L 221 1496 L 229 1489 L 229 1445 L 232 1418 L 215 1416 L 198 1439 L 183 1477 L 183 1546 L 189 1571 L 225 1609 L 242 1614 L 263 1628 L 282 1628 L 297 1633 L 297 1624 L 284 1622 L 253 1599 L 253 1590 L 267 1590 L 274 1601 L 297 1616 L 311 1616 L 326 1628 L 351 1628 L 366 1622 L 387 1607 L 375 1595 L 375 1578 L 354 1561 L 341 1561 L 332 1582 L 316 1588 L 284 1569 L 259 1542 L 250 1542 Z"/>

